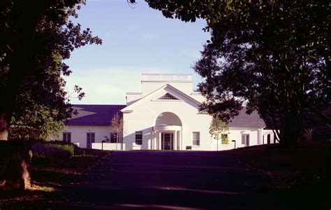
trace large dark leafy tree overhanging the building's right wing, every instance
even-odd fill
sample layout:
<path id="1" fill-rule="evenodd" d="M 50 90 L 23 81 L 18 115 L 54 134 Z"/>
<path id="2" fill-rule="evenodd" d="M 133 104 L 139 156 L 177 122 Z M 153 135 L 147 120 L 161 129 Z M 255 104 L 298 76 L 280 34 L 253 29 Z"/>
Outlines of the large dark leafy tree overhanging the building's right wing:
<path id="1" fill-rule="evenodd" d="M 227 123 L 246 105 L 270 120 L 284 146 L 298 143 L 304 108 L 331 125 L 323 114 L 331 92 L 328 1 L 147 2 L 167 18 L 207 20 L 212 37 L 193 66 L 204 78 L 201 109 Z"/>

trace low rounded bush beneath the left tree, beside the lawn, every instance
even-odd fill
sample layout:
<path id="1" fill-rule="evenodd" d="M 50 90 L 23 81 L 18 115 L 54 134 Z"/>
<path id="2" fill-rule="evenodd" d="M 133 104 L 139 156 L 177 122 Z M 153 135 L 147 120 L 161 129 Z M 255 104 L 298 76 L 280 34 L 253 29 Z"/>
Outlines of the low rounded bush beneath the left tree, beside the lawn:
<path id="1" fill-rule="evenodd" d="M 60 143 L 60 141 L 52 141 L 35 144 L 32 147 L 32 151 L 36 156 L 68 158 L 75 154 L 75 146 L 73 144 Z"/>

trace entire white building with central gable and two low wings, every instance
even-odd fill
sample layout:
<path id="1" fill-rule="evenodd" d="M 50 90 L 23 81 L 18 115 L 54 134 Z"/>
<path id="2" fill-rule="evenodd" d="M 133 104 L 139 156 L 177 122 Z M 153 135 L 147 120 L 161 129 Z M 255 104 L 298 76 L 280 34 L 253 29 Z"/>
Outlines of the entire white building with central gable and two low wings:
<path id="1" fill-rule="evenodd" d="M 66 122 L 61 140 L 80 147 L 115 149 L 114 131 L 110 122 L 116 112 L 124 119 L 121 150 L 195 150 L 216 151 L 235 147 L 274 143 L 272 131 L 253 112 L 240 111 L 229 123 L 230 141 L 221 144 L 209 134 L 212 116 L 199 111 L 204 98 L 193 92 L 191 74 L 142 74 L 142 91 L 127 92 L 125 105 L 74 105 L 78 116 Z M 105 137 L 111 143 L 101 145 Z M 235 140 L 232 141 L 232 140 Z"/>

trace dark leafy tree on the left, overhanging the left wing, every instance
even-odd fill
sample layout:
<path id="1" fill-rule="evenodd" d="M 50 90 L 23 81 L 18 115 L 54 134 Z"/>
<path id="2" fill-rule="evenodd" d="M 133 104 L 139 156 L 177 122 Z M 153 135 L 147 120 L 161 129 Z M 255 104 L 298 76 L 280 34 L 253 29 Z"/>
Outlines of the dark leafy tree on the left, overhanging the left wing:
<path id="1" fill-rule="evenodd" d="M 75 48 L 101 44 L 90 29 L 82 30 L 68 20 L 78 17 L 75 10 L 82 3 L 84 0 L 1 1 L 0 139 L 8 139 L 10 125 L 39 130 L 41 125 L 71 116 L 63 78 L 71 70 L 64 59 Z M 75 87 L 79 98 L 84 96 L 81 90 Z M 36 121 L 31 122 L 32 118 Z"/>

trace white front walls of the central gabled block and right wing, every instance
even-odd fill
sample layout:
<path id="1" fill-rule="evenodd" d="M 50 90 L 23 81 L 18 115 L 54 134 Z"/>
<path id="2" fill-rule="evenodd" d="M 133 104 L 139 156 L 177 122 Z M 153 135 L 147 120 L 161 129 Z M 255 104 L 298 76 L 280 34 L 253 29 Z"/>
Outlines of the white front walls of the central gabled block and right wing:
<path id="1" fill-rule="evenodd" d="M 180 100 L 155 100 L 165 92 L 169 92 Z M 228 150 L 234 148 L 232 140 L 236 141 L 237 148 L 244 147 L 242 134 L 249 134 L 249 146 L 263 144 L 262 127 L 230 127 L 228 133 L 230 144 L 222 145 L 221 141 L 217 142 L 209 134 L 212 116 L 207 113 L 199 113 L 197 104 L 168 87 L 153 92 L 139 103 L 134 104 L 130 110 L 132 112 L 124 113 L 124 143 L 128 150 L 152 149 L 153 127 L 157 125 L 156 118 L 164 112 L 174 113 L 182 121 L 182 141 L 179 145 L 181 150 L 186 150 L 186 146 L 192 146 L 193 151 L 216 151 L 217 144 L 219 144 L 219 151 Z M 169 123 L 171 122 L 169 121 Z M 142 131 L 142 146 L 135 145 L 136 131 Z M 193 146 L 193 132 L 200 132 L 200 146 Z M 156 136 L 156 139 L 159 137 Z"/>

